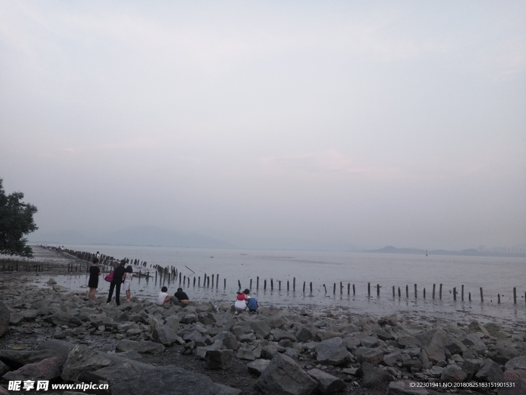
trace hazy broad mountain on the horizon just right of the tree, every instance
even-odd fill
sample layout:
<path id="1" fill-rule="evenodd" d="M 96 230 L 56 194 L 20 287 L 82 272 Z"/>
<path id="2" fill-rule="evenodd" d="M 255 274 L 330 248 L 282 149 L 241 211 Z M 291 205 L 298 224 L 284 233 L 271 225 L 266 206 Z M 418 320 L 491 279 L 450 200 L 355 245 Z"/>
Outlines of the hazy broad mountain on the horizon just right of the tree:
<path id="1" fill-rule="evenodd" d="M 235 248 L 217 238 L 197 233 L 183 234 L 156 226 L 131 226 L 115 232 L 89 234 L 85 232 L 35 232 L 29 235 L 31 243 L 46 244 L 116 244 L 155 245 L 166 247 Z"/>

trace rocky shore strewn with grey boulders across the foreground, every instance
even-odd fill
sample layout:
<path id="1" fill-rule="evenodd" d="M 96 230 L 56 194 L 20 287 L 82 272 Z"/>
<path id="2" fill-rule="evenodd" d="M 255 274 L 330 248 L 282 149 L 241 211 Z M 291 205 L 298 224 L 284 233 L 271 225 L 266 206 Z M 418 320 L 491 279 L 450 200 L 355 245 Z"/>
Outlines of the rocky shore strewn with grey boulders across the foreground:
<path id="1" fill-rule="evenodd" d="M 44 272 L 0 272 L 0 394 L 17 393 L 7 390 L 14 380 L 107 383 L 81 393 L 112 395 L 526 394 L 524 322 L 340 307 L 234 315 L 229 302 L 159 307 L 133 297 L 116 306 L 105 294 L 88 303 L 85 292 L 45 284 L 67 272 L 68 259 L 49 257 Z M 49 388 L 18 393 L 71 393 Z"/>

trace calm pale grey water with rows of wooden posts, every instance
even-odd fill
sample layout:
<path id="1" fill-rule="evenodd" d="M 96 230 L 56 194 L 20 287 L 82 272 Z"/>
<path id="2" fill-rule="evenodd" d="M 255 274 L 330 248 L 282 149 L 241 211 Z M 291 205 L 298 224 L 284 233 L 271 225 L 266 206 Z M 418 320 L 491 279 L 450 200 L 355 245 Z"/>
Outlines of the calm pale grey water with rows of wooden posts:
<path id="1" fill-rule="evenodd" d="M 233 300 L 238 289 L 249 287 L 252 279 L 252 294 L 263 304 L 322 305 L 343 306 L 357 313 L 388 314 L 393 309 L 412 313 L 417 316 L 467 320 L 481 318 L 488 321 L 491 317 L 517 321 L 526 321 L 526 259 L 494 258 L 470 256 L 423 256 L 402 254 L 368 254 L 341 252 L 306 251 L 266 251 L 266 250 L 222 250 L 213 248 L 176 248 L 106 245 L 67 245 L 78 251 L 100 251 L 115 258 L 128 257 L 147 261 L 144 271 L 155 271 L 150 264 L 175 266 L 183 276 L 190 277 L 187 293 L 194 299 Z M 185 266 L 188 266 L 191 271 Z M 138 270 L 138 267 L 134 267 Z M 219 274 L 219 286 L 214 288 L 193 287 L 194 276 Z M 256 278 L 259 276 L 259 290 L 256 290 Z M 60 279 L 60 283 L 72 289 L 82 289 L 87 284 L 84 276 Z M 296 292 L 292 290 L 296 277 Z M 224 279 L 226 278 L 226 289 Z M 270 279 L 274 279 L 274 290 L 270 290 Z M 264 280 L 267 280 L 267 289 Z M 278 282 L 281 281 L 281 290 Z M 287 292 L 287 281 L 290 290 Z M 306 292 L 302 292 L 306 282 Z M 312 293 L 309 283 L 312 282 Z M 339 283 L 343 283 L 340 294 Z M 371 283 L 371 297 L 367 294 L 367 283 Z M 100 292 L 108 288 L 104 281 Z M 337 283 L 336 295 L 333 284 Z M 347 295 L 347 284 L 351 284 Z M 188 283 L 187 283 L 188 284 Z M 323 288 L 326 284 L 327 294 Z M 356 295 L 352 294 L 352 284 Z M 379 284 L 380 296 L 376 295 Z M 418 284 L 418 297 L 414 298 L 414 284 Z M 436 284 L 436 299 L 431 298 L 433 284 Z M 438 299 L 439 284 L 443 284 L 442 300 Z M 460 300 L 461 285 L 464 285 L 464 302 Z M 138 296 L 153 297 L 162 284 L 143 278 L 134 278 L 133 288 Z M 168 282 L 165 282 L 168 286 Z M 392 297 L 392 286 L 397 296 Z M 406 285 L 409 285 L 409 298 L 406 297 Z M 169 285 L 171 292 L 179 286 L 179 279 Z M 183 286 L 181 284 L 181 286 Z M 398 287 L 402 297 L 398 298 Z M 457 287 L 458 300 L 453 301 L 452 290 Z M 479 288 L 484 290 L 484 303 L 480 302 Z M 517 287 L 518 302 L 513 305 L 513 287 Z M 186 285 L 185 288 L 188 288 Z M 426 288 L 426 299 L 422 291 Z M 472 302 L 468 302 L 471 293 Z M 501 304 L 497 305 L 497 294 L 501 294 Z"/>

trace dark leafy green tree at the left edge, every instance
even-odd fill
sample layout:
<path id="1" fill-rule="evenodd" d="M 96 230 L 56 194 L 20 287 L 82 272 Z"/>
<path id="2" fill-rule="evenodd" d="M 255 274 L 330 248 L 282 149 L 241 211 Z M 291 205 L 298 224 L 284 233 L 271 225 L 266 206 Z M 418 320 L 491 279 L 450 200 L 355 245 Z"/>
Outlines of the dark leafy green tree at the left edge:
<path id="1" fill-rule="evenodd" d="M 22 192 L 6 195 L 0 178 L 0 254 L 33 257 L 24 235 L 38 229 L 33 221 L 37 209 L 24 203 Z"/>

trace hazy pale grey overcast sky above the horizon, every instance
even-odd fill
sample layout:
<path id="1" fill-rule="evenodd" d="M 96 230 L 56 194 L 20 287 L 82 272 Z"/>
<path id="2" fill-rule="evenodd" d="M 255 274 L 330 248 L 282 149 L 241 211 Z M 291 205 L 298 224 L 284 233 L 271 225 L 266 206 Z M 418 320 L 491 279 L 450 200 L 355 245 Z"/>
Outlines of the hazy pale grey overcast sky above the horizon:
<path id="1" fill-rule="evenodd" d="M 526 3 L 0 0 L 39 231 L 526 243 Z"/>

